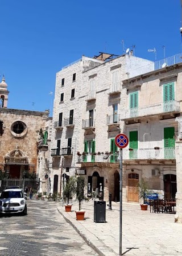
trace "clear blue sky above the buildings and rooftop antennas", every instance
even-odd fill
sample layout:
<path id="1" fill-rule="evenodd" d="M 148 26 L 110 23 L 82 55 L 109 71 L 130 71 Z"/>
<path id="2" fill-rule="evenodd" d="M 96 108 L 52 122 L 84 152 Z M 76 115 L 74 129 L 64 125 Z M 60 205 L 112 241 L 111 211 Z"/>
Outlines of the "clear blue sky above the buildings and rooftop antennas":
<path id="1" fill-rule="evenodd" d="M 56 72 L 84 54 L 181 53 L 180 0 L 0 0 L 0 74 L 12 109 L 52 110 Z M 52 111 L 51 111 L 52 112 Z"/>

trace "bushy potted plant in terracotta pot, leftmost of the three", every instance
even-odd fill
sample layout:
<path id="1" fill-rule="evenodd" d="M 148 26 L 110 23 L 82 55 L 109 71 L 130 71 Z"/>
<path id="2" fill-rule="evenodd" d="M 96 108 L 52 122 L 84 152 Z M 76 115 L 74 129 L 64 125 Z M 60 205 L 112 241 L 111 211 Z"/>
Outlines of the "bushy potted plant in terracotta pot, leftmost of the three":
<path id="1" fill-rule="evenodd" d="M 65 211 L 70 212 L 72 210 L 72 204 L 69 203 L 69 199 L 73 198 L 73 195 L 76 193 L 76 177 L 72 176 L 68 179 L 63 193 L 65 199 L 67 199 L 67 204 L 65 204 Z"/>

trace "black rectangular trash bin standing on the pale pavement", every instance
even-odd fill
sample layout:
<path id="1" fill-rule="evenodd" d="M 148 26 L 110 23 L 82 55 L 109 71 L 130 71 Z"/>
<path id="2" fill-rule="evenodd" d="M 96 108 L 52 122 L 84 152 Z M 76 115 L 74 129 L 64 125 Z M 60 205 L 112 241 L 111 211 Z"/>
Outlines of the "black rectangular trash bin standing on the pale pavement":
<path id="1" fill-rule="evenodd" d="M 106 222 L 105 201 L 94 201 L 94 222 Z"/>

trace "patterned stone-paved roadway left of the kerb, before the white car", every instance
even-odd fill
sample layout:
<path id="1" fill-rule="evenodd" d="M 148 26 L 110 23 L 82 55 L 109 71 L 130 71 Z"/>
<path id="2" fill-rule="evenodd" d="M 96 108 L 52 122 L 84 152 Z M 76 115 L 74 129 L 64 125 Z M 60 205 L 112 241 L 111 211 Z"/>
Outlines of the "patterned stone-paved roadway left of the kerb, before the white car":
<path id="1" fill-rule="evenodd" d="M 98 255 L 57 212 L 58 202 L 27 201 L 27 216 L 0 218 L 0 255 Z"/>

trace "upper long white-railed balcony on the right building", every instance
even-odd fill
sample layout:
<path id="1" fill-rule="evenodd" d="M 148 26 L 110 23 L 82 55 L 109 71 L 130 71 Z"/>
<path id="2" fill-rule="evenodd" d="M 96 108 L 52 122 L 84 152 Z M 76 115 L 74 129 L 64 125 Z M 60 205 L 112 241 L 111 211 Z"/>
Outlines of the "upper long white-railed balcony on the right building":
<path id="1" fill-rule="evenodd" d="M 179 101 L 165 101 L 143 107 L 121 110 L 121 120 L 135 119 L 158 114 L 180 113 Z"/>

